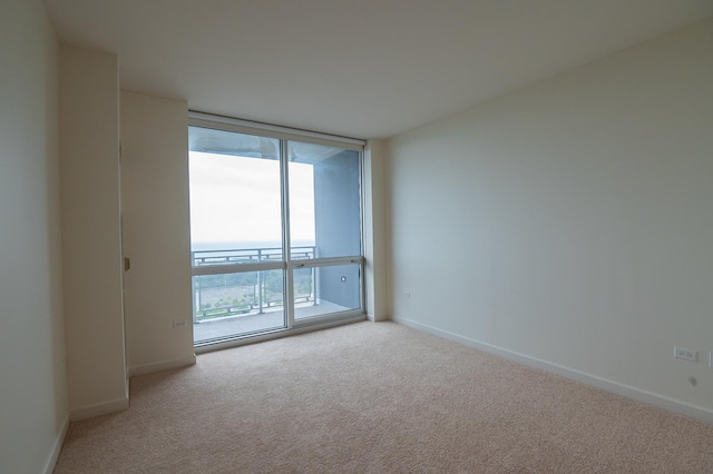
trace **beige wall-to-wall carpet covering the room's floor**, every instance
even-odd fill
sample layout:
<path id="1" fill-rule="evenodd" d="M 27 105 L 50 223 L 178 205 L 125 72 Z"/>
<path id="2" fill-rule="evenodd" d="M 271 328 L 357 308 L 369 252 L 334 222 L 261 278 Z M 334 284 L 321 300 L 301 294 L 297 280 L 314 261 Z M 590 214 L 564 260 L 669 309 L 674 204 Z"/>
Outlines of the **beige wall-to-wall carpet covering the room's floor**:
<path id="1" fill-rule="evenodd" d="M 56 473 L 713 473 L 713 426 L 393 323 L 205 354 Z"/>

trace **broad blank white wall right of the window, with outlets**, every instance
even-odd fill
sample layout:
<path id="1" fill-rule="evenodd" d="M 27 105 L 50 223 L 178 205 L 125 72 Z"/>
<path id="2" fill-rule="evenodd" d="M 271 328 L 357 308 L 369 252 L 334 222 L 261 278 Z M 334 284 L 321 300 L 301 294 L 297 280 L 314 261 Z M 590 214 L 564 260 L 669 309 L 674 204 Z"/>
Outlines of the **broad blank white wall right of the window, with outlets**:
<path id="1" fill-rule="evenodd" d="M 713 421 L 713 20 L 388 155 L 395 319 Z"/>

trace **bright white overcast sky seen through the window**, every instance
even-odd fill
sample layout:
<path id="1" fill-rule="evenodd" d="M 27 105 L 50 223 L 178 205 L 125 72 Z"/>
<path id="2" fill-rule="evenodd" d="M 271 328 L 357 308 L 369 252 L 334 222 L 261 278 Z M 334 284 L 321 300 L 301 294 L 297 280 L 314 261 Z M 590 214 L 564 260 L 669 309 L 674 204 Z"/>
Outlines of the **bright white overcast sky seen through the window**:
<path id="1" fill-rule="evenodd" d="M 290 162 L 293 241 L 314 241 L 312 165 Z M 280 161 L 189 152 L 191 238 L 281 241 Z"/>

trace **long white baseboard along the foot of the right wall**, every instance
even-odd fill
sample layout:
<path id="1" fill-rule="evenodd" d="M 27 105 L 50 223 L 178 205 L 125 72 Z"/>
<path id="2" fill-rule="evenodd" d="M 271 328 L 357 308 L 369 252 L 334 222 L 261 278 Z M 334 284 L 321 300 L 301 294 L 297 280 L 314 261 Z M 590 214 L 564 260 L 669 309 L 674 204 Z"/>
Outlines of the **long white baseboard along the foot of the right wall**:
<path id="1" fill-rule="evenodd" d="M 490 354 L 495 354 L 497 356 L 507 358 L 509 361 L 529 365 L 530 367 L 539 368 L 546 372 L 550 372 L 553 374 L 561 375 L 573 381 L 577 381 L 586 385 L 602 388 L 604 391 L 612 392 L 617 395 L 622 395 L 624 397 L 635 399 L 637 402 L 642 402 L 648 405 L 656 406 L 658 408 L 663 408 L 668 412 L 677 413 L 684 416 L 688 416 L 691 418 L 695 418 L 705 423 L 713 424 L 713 411 L 701 407 L 701 406 L 692 405 L 686 402 L 681 402 L 678 399 L 658 395 L 653 392 L 647 392 L 641 388 L 632 387 L 629 385 L 621 384 L 618 382 L 609 381 L 603 377 L 598 377 L 596 375 L 590 375 L 580 371 L 576 371 L 574 368 L 553 364 L 547 361 L 543 361 L 535 357 L 530 357 L 525 354 L 516 353 L 514 350 L 504 349 L 501 347 L 494 346 L 491 344 L 482 343 L 480 340 L 471 339 L 469 337 L 463 337 L 458 334 L 450 333 L 448 330 L 438 329 L 436 327 L 428 326 L 426 324 L 416 323 L 401 317 L 391 317 L 391 320 L 398 324 L 402 324 L 404 326 L 409 326 L 413 329 L 422 330 L 424 333 L 429 333 L 434 336 L 443 337 L 446 339 L 450 339 L 456 343 L 463 344 L 466 346 L 475 347 L 477 349 L 480 349 Z"/>

